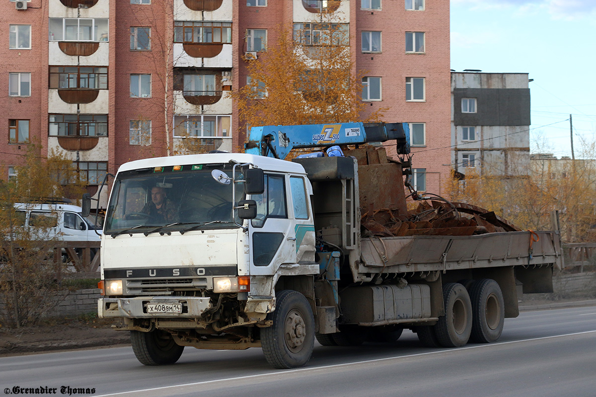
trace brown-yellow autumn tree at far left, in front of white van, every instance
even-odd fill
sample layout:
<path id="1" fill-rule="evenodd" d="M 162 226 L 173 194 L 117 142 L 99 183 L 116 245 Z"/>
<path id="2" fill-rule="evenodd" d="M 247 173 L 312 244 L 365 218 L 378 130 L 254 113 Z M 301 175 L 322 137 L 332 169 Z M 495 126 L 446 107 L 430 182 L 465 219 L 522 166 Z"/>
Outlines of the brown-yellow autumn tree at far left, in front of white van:
<path id="1" fill-rule="evenodd" d="M 57 213 L 40 212 L 26 224 L 26 211 L 48 198 L 80 196 L 84 183 L 72 161 L 41 158 L 38 145 L 29 146 L 15 171 L 0 180 L 0 315 L 3 325 L 20 327 L 35 324 L 58 304 L 55 279 L 64 270 L 60 255 L 54 255 Z"/>

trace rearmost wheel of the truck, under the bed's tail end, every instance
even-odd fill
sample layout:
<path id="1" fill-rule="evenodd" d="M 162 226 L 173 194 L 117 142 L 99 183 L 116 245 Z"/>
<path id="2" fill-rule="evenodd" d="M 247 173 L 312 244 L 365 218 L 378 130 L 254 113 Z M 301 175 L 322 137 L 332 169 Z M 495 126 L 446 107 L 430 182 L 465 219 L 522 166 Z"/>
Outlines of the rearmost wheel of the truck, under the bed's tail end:
<path id="1" fill-rule="evenodd" d="M 505 322 L 505 304 L 501 287 L 495 280 L 477 280 L 470 287 L 472 301 L 471 340 L 492 343 L 501 337 Z"/>

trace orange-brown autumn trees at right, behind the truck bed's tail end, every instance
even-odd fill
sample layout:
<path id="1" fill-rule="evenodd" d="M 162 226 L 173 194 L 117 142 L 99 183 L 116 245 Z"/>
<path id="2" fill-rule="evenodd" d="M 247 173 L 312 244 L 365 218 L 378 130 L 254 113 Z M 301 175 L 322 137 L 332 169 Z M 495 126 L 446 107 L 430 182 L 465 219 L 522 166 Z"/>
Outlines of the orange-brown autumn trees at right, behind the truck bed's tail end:
<path id="1" fill-rule="evenodd" d="M 551 230 L 551 212 L 559 211 L 565 242 L 596 241 L 596 152 L 583 142 L 583 160 L 532 156 L 527 176 L 504 178 L 467 171 L 448 182 L 449 199 L 495 211 L 516 226 Z M 580 157 L 580 156 L 578 156 Z M 454 174 L 455 176 L 455 174 Z"/>

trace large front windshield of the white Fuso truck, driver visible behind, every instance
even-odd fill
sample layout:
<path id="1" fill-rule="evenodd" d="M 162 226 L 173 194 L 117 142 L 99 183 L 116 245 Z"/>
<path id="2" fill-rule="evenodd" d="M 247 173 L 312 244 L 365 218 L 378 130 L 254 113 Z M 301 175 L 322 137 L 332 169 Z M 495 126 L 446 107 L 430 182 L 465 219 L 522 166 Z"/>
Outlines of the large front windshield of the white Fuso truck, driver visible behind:
<path id="1" fill-rule="evenodd" d="M 211 171 L 232 176 L 230 164 L 146 168 L 118 174 L 105 218 L 104 233 L 185 232 L 201 227 L 230 228 L 232 184 L 222 185 Z M 237 171 L 238 172 L 238 171 Z M 238 186 L 235 202 L 243 199 Z M 236 218 L 240 223 L 240 218 Z"/>

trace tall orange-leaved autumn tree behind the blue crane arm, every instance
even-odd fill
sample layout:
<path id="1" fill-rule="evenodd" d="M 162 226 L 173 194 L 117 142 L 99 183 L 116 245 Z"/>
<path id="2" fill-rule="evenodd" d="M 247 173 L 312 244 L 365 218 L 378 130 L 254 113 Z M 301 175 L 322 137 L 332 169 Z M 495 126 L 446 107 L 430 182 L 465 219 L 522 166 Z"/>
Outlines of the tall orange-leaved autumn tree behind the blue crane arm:
<path id="1" fill-rule="evenodd" d="M 306 25 L 306 24 L 305 24 Z M 350 58 L 342 24 L 322 23 L 320 37 L 280 25 L 266 53 L 247 62 L 247 85 L 231 93 L 239 116 L 239 136 L 247 126 L 378 121 L 386 109 L 368 115 L 362 102 L 362 75 Z M 292 35 L 293 32 L 293 35 Z M 308 40 L 305 40 L 305 36 Z"/>

